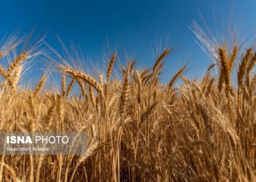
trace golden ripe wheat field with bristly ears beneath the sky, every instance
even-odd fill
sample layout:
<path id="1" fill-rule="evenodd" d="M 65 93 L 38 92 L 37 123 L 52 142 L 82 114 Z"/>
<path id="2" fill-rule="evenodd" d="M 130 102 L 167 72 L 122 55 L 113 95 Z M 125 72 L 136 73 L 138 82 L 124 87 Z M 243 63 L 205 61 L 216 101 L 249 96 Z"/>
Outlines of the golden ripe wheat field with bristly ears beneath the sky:
<path id="1" fill-rule="evenodd" d="M 168 84 L 159 75 L 169 48 L 152 68 L 136 70 L 133 60 L 122 65 L 122 80 L 112 74 L 117 53 L 97 77 L 56 64 L 62 74 L 57 92 L 43 89 L 47 73 L 34 88 L 22 88 L 24 67 L 40 53 L 38 46 L 13 53 L 20 43 L 6 40 L 0 49 L 1 60 L 11 60 L 0 63 L 0 130 L 86 131 L 88 151 L 81 156 L 1 155 L 0 180 L 256 180 L 254 47 L 218 46 L 216 63 L 202 78 L 185 77 L 184 65 Z"/>

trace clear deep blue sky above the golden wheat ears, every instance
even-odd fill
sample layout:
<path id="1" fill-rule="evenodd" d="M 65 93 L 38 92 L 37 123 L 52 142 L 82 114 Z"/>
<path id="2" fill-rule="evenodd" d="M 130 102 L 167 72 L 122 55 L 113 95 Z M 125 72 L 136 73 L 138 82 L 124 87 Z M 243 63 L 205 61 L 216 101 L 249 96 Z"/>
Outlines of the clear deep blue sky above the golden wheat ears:
<path id="1" fill-rule="evenodd" d="M 184 63 L 191 67 L 190 76 L 200 76 L 210 63 L 189 29 L 193 20 L 203 26 L 200 14 L 213 31 L 215 24 L 218 30 L 225 30 L 231 18 L 241 30 L 251 33 L 256 23 L 256 1 L 1 0 L 0 35 L 18 28 L 26 33 L 36 26 L 35 34 L 49 30 L 46 42 L 52 47 L 60 49 L 56 34 L 64 44 L 73 40 L 96 64 L 101 64 L 102 47 L 108 40 L 110 48 L 117 48 L 120 55 L 127 52 L 139 67 L 150 67 L 159 39 L 164 43 L 169 37 L 168 43 L 174 44 L 176 51 L 164 69 L 163 79 L 168 80 Z"/>

